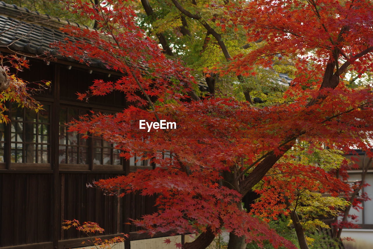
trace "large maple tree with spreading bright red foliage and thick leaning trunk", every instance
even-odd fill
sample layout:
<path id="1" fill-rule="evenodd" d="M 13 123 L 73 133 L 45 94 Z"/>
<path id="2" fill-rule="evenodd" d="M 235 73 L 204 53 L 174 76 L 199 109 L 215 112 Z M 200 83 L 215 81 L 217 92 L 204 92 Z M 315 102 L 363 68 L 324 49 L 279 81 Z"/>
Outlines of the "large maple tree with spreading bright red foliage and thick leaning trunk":
<path id="1" fill-rule="evenodd" d="M 266 191 L 266 198 L 273 201 L 267 201 L 263 210 L 278 210 L 283 205 L 279 197 L 295 205 L 297 189 L 332 195 L 346 189 L 347 185 L 322 167 L 291 161 L 294 156 L 286 152 L 301 148 L 301 141 L 310 143 L 310 153 L 323 144 L 344 151 L 354 146 L 373 156 L 369 140 L 373 130 L 372 89 L 346 86 L 349 70 L 364 73 L 372 68 L 371 3 L 225 1 L 210 3 L 214 15 L 206 20 L 197 3 L 193 3 L 197 7 L 185 9 L 183 3 L 171 2 L 212 34 L 228 60 L 206 68 L 207 81 L 209 76 L 233 73 L 243 83 L 254 79 L 258 68 L 272 68 L 280 59 L 292 60 L 294 79 L 280 102 L 264 107 L 250 100 L 250 88 L 245 88 L 244 102 L 219 96 L 200 99 L 193 91 L 197 83 L 194 72 L 180 60 L 166 57 L 166 47 L 161 42 L 163 53 L 157 42 L 145 35 L 128 4 L 120 0 L 102 4 L 67 1 L 70 12 L 88 15 L 98 29 L 67 26 L 62 31 L 80 40 L 66 39 L 53 46 L 82 63 L 99 59 L 124 75 L 115 82 L 95 80 L 78 98 L 118 90 L 131 102 L 115 115 L 85 116 L 70 129 L 117 144 L 126 159 L 136 155 L 157 165 L 153 170 L 137 170 L 95 184 L 107 191 L 119 189 L 121 196 L 135 191 L 156 194 L 159 211 L 134 224 L 150 234 L 201 233 L 184 248 L 206 248 L 222 229 L 231 232 L 229 249 L 244 248 L 253 240 L 294 248 L 247 213 L 241 198 L 268 179 L 272 169 L 290 172 L 286 174 L 294 182 L 270 182 L 276 186 Z M 227 30 L 241 30 L 248 44 L 263 43 L 231 56 L 220 35 Z M 139 120 L 176 122 L 177 129 L 147 132 L 138 129 Z M 298 240 L 301 248 L 307 248 L 301 235 Z"/>

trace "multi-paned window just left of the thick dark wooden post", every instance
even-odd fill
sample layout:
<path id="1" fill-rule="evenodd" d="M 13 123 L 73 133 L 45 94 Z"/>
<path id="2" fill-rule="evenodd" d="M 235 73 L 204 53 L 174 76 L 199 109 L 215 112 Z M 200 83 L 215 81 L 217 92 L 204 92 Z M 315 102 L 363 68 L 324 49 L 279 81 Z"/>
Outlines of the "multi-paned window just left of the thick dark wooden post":
<path id="1" fill-rule="evenodd" d="M 44 105 L 43 108 L 45 110 L 35 112 L 12 104 L 11 163 L 49 163 L 50 106 Z"/>

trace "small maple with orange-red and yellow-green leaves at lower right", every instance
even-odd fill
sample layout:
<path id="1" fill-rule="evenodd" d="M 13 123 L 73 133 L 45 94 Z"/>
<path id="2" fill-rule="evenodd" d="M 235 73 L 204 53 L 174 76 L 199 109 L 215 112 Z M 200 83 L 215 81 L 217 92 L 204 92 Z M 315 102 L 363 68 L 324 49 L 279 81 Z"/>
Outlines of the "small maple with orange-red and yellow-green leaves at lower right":
<path id="1" fill-rule="evenodd" d="M 308 144 L 300 145 L 301 150 L 289 150 L 279 160 L 283 163 L 275 165 L 264 176 L 263 182 L 257 184 L 255 191 L 260 197 L 252 205 L 251 213 L 268 221 L 270 218 L 277 220 L 281 214 L 288 215 L 300 246 L 306 248 L 305 244 L 310 244 L 307 239 L 312 240 L 305 236 L 305 232 L 314 233 L 319 228 L 329 228 L 320 217 L 337 217 L 349 206 L 350 202 L 339 195 L 348 193 L 351 188 L 337 179 L 330 181 L 330 175 L 323 176 L 325 172 L 341 170 L 348 164 L 341 151 L 314 148 L 310 154 Z M 322 193 L 328 192 L 331 196 L 322 196 Z M 289 202 L 289 199 L 295 201 Z"/>

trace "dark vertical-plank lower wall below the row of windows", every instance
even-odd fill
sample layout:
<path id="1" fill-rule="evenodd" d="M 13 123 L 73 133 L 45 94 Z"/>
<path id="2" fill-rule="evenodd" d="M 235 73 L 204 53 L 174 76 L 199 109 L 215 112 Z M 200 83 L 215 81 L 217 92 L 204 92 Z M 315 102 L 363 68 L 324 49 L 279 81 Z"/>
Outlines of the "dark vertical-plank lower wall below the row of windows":
<path id="1" fill-rule="evenodd" d="M 129 217 L 136 219 L 154 212 L 154 198 L 139 194 L 118 198 L 104 195 L 100 189 L 86 187 L 94 180 L 112 176 L 115 175 L 61 173 L 60 215 L 57 224 L 53 224 L 53 174 L 1 173 L 0 247 L 52 242 L 52 228 L 61 227 L 61 221 L 65 219 L 97 222 L 105 229 L 104 234 L 137 231 L 136 227 L 125 223 Z M 57 236 L 59 241 L 66 240 L 64 245 L 69 245 L 68 240 L 82 238 L 84 234 L 72 228 L 60 230 Z"/>

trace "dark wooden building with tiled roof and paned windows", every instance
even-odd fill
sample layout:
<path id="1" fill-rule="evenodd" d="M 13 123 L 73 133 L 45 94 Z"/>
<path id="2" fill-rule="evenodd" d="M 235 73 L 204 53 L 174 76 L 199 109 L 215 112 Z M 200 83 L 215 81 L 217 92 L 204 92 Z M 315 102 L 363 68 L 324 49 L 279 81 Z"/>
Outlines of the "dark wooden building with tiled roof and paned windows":
<path id="1" fill-rule="evenodd" d="M 126 103 L 119 92 L 91 98 L 89 103 L 76 100 L 75 93 L 87 90 L 94 79 L 121 76 L 104 69 L 100 61 L 87 67 L 63 58 L 45 62 L 35 56 L 65 37 L 58 30 L 61 25 L 58 19 L 0 2 L 0 52 L 29 59 L 31 67 L 20 78 L 52 82 L 50 91 L 36 96 L 44 111 L 10 105 L 12 121 L 0 124 L 0 248 L 78 247 L 82 234 L 62 231 L 65 219 L 97 222 L 106 237 L 128 233 L 131 240 L 143 239 L 146 235 L 135 233 L 136 228 L 125 222 L 155 210 L 151 197 L 118 199 L 87 188 L 94 180 L 152 166 L 122 160 L 113 145 L 101 138 L 85 140 L 67 132 L 65 123 L 87 111 L 114 113 Z"/>

